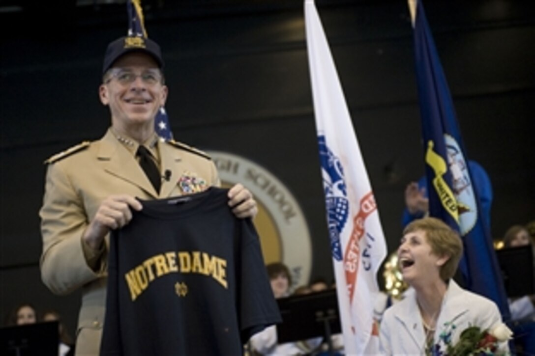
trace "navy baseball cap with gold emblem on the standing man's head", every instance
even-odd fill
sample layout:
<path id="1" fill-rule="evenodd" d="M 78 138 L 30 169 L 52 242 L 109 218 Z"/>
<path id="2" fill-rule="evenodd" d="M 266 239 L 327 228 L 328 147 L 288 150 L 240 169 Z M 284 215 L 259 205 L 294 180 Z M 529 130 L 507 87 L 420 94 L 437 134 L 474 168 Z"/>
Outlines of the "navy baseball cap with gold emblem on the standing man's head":
<path id="1" fill-rule="evenodd" d="M 106 73 L 119 57 L 131 52 L 147 53 L 147 55 L 154 58 L 160 69 L 164 67 L 162 51 L 156 42 L 140 36 L 124 36 L 108 45 L 104 55 L 102 74 Z"/>

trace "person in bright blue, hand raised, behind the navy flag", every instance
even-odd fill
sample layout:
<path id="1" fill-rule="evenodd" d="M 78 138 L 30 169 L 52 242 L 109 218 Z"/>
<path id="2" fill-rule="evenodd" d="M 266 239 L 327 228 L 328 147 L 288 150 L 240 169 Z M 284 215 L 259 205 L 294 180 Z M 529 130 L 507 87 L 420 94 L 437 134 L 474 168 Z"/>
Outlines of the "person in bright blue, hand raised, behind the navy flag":
<path id="1" fill-rule="evenodd" d="M 473 185 L 478 193 L 483 211 L 483 218 L 487 226 L 490 227 L 491 205 L 492 205 L 492 185 L 485 169 L 475 161 L 468 161 L 468 167 L 472 174 Z M 462 180 L 459 180 L 462 181 Z M 455 183 L 454 183 L 455 189 Z M 405 205 L 403 211 L 402 226 L 409 222 L 424 218 L 429 213 L 429 199 L 427 199 L 427 179 L 421 177 L 418 182 L 410 182 L 405 189 Z"/>

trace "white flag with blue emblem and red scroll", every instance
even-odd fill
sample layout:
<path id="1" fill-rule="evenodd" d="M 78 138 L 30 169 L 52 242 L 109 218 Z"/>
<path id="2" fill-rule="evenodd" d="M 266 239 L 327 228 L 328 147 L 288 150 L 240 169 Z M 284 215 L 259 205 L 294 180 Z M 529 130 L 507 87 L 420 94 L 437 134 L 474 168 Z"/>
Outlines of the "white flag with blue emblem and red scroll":
<path id="1" fill-rule="evenodd" d="M 305 0 L 308 60 L 327 223 L 346 354 L 377 354 L 376 274 L 386 242 L 361 150 L 313 0 Z"/>

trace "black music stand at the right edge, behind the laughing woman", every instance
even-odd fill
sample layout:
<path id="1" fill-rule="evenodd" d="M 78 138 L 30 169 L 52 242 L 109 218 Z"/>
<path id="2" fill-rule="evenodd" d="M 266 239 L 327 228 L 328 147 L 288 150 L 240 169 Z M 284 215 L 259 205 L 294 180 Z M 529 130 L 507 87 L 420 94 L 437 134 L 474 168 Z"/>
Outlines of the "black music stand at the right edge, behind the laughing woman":
<path id="1" fill-rule="evenodd" d="M 496 250 L 496 257 L 508 297 L 535 294 L 531 246 L 507 247 Z"/>

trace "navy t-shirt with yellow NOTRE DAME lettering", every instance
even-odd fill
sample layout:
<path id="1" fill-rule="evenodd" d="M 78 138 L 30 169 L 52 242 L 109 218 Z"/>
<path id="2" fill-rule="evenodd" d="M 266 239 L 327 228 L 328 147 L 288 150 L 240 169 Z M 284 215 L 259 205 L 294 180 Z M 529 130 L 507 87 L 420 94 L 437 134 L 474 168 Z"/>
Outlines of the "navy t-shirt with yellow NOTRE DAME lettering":
<path id="1" fill-rule="evenodd" d="M 141 200 L 110 237 L 104 355 L 239 355 L 281 322 L 250 219 L 227 189 Z"/>

